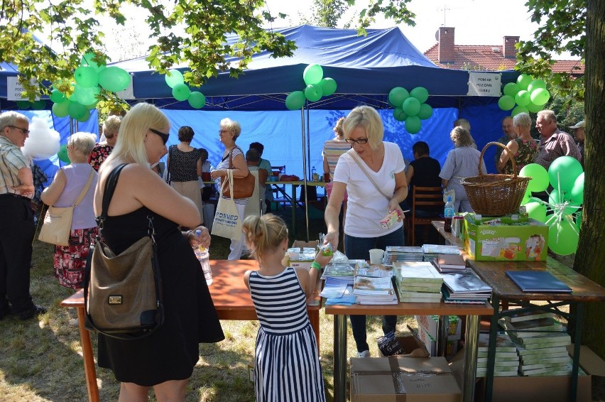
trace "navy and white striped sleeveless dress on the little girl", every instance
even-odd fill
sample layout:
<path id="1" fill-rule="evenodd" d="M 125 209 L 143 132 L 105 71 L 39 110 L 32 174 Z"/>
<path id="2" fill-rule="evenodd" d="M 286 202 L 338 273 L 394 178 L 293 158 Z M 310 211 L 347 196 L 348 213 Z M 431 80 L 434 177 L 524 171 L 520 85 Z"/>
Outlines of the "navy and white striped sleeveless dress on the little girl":
<path id="1" fill-rule="evenodd" d="M 275 276 L 253 271 L 249 284 L 261 323 L 254 362 L 256 401 L 325 401 L 307 297 L 294 268 Z"/>

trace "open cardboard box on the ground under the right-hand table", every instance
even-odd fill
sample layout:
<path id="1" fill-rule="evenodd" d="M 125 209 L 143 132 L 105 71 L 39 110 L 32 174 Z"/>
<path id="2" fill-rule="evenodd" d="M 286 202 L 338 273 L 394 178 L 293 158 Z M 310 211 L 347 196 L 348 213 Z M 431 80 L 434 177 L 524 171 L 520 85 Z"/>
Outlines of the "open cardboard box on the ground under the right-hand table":
<path id="1" fill-rule="evenodd" d="M 573 345 L 567 347 L 572 355 Z M 579 365 L 587 375 L 578 376 L 577 402 L 592 401 L 592 376 L 605 376 L 605 362 L 587 346 L 580 350 Z M 572 376 L 515 376 L 495 377 L 492 391 L 493 402 L 567 402 Z M 481 378 L 475 389 L 475 401 L 485 400 L 485 379 Z"/>

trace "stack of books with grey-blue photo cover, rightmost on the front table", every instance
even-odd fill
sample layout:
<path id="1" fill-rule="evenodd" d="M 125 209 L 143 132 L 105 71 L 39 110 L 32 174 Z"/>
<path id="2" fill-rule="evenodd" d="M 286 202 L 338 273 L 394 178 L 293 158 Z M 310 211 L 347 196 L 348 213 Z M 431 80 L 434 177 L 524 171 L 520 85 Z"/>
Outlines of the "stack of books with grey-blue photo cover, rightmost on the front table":
<path id="1" fill-rule="evenodd" d="M 459 273 L 443 273 L 443 300 L 445 303 L 484 304 L 491 298 L 491 287 L 472 269 Z"/>

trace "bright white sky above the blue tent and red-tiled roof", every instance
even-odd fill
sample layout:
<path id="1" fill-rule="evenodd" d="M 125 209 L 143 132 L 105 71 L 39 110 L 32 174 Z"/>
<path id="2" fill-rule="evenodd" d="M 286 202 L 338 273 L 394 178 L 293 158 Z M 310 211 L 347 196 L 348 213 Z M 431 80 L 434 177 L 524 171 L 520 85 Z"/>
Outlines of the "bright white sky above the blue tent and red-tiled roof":
<path id="1" fill-rule="evenodd" d="M 537 23 L 530 21 L 530 13 L 525 6 L 527 0 L 412 0 L 408 9 L 416 14 L 416 26 L 401 25 L 403 34 L 418 50 L 425 52 L 437 43 L 435 32 L 440 26 L 456 28 L 457 45 L 502 45 L 504 36 L 520 36 L 520 40 L 530 40 Z M 311 14 L 312 0 L 267 0 L 267 7 L 273 15 L 288 13 L 286 20 L 273 23 L 274 28 L 300 25 L 299 13 Z M 359 6 L 368 1 L 357 0 Z M 356 6 L 356 9 L 361 7 Z M 351 18 L 345 13 L 339 23 Z M 394 21 L 377 20 L 371 28 L 395 26 Z M 353 25 L 355 26 L 355 25 Z"/>

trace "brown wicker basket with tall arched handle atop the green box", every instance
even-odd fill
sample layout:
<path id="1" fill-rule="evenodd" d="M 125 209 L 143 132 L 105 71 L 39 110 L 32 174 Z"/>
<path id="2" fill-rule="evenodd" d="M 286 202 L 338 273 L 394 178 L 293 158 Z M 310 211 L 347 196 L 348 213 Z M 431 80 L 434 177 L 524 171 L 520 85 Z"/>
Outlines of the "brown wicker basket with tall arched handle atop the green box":
<path id="1" fill-rule="evenodd" d="M 511 156 L 513 163 L 512 175 L 492 175 L 484 174 L 481 170 L 481 161 L 486 149 L 496 145 L 506 149 Z M 517 176 L 517 165 L 515 158 L 508 148 L 499 142 L 489 142 L 481 151 L 479 158 L 479 175 L 472 178 L 464 178 L 460 183 L 464 185 L 467 191 L 467 197 L 476 214 L 486 215 L 488 217 L 501 217 L 506 214 L 518 212 L 521 200 L 531 178 L 521 178 Z"/>

